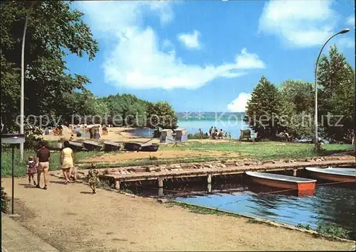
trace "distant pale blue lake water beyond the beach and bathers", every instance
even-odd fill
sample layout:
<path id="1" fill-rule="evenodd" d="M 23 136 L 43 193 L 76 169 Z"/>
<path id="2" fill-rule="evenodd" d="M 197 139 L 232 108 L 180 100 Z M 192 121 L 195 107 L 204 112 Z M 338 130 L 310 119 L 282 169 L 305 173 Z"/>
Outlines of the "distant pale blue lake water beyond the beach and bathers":
<path id="1" fill-rule="evenodd" d="M 211 121 L 190 121 L 190 120 L 181 120 L 178 121 L 178 126 L 180 128 L 186 128 L 188 133 L 199 133 L 199 128 L 201 128 L 204 133 L 209 133 L 209 128 L 211 126 L 222 129 L 224 132 L 231 132 L 232 138 L 240 137 L 240 130 L 247 129 L 248 126 L 244 121 L 221 121 L 221 120 L 211 120 Z M 132 133 L 135 136 L 142 136 L 145 138 L 152 138 L 154 130 L 152 128 L 135 128 L 127 132 Z M 253 136 L 253 133 L 252 133 Z"/>

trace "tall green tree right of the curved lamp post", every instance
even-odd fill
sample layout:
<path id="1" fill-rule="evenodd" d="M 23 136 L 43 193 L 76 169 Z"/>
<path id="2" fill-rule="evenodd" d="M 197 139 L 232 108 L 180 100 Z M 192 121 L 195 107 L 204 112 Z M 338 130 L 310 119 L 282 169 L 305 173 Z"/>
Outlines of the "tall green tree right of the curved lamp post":
<path id="1" fill-rule="evenodd" d="M 351 142 L 355 128 L 355 70 L 335 45 L 330 46 L 328 56 L 320 57 L 318 89 L 319 121 L 325 135 Z"/>

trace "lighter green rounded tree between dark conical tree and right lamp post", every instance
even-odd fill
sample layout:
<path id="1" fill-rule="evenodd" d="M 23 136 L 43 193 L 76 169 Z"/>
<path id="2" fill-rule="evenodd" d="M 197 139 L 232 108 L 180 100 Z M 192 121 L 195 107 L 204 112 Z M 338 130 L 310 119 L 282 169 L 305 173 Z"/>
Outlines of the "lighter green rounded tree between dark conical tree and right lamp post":
<path id="1" fill-rule="evenodd" d="M 279 88 L 281 94 L 281 126 L 294 137 L 313 134 L 313 84 L 286 80 Z"/>

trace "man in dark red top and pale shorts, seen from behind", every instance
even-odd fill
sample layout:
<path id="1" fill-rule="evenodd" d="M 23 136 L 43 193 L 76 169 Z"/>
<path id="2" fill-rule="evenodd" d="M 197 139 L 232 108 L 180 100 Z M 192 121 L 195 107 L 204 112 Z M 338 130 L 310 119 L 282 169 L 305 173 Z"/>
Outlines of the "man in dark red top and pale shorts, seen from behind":
<path id="1" fill-rule="evenodd" d="M 48 170 L 49 170 L 49 158 L 50 158 L 50 151 L 48 148 L 46 148 L 45 143 L 41 142 L 40 143 L 41 148 L 37 151 L 37 156 L 36 156 L 36 167 L 37 167 L 37 188 L 40 187 L 40 182 L 41 182 L 41 173 L 43 172 L 43 179 L 45 182 L 45 186 L 43 187 L 44 190 L 47 190 L 48 186 Z"/>

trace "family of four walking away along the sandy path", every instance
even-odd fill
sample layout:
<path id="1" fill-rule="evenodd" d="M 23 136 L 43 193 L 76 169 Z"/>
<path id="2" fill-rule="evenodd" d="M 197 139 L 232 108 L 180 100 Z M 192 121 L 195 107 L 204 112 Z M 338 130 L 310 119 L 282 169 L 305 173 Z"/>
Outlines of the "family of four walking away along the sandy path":
<path id="1" fill-rule="evenodd" d="M 49 160 L 51 157 L 50 150 L 46 147 L 44 142 L 40 143 L 40 148 L 37 150 L 36 159 L 33 156 L 28 157 L 28 163 L 26 166 L 26 174 L 28 175 L 28 185 L 31 185 L 31 180 L 33 185 L 37 188 L 41 188 L 41 174 L 43 173 L 44 179 L 44 190 L 48 188 L 49 182 Z M 75 167 L 74 167 L 74 152 L 70 148 L 69 142 L 65 141 L 63 143 L 63 149 L 61 150 L 60 158 L 61 169 L 64 176 L 64 184 L 67 185 L 70 180 L 75 182 L 77 180 Z M 37 174 L 37 182 L 35 181 L 35 175 Z M 88 182 L 90 188 L 95 194 L 96 184 L 98 182 L 98 171 L 95 170 L 95 166 L 92 165 L 88 172 Z"/>

